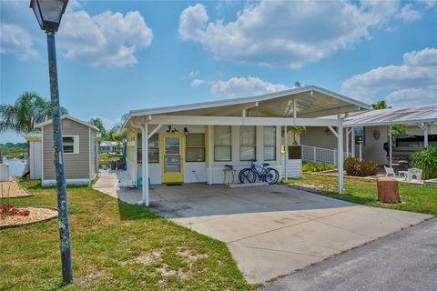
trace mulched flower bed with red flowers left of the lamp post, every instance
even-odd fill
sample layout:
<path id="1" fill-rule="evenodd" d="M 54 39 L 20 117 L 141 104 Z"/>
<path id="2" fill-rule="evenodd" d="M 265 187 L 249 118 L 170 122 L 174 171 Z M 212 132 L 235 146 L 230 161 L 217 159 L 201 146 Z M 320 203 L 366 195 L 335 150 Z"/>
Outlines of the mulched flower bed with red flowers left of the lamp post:
<path id="1" fill-rule="evenodd" d="M 57 217 L 57 209 L 52 207 L 17 208 L 13 205 L 0 206 L 0 229 L 26 226 Z"/>

